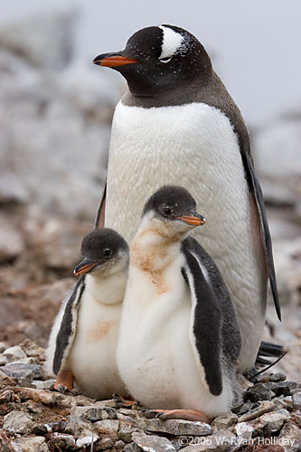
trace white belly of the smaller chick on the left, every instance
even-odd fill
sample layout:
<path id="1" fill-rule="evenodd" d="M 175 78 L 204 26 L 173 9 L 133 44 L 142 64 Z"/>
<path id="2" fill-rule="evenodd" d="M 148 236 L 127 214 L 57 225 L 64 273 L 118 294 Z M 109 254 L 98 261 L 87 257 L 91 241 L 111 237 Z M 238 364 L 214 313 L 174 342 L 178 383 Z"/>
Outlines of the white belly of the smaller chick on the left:
<path id="1" fill-rule="evenodd" d="M 87 295 L 81 302 L 77 333 L 65 368 L 72 371 L 80 392 L 94 399 L 125 394 L 116 350 L 121 304 L 104 305 Z"/>

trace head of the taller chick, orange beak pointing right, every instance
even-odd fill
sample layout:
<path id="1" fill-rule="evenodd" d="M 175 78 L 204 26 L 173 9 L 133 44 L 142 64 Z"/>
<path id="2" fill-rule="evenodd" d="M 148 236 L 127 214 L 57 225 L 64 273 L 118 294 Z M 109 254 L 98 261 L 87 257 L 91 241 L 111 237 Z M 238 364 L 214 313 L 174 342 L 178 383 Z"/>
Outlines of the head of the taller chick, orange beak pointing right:
<path id="1" fill-rule="evenodd" d="M 183 187 L 175 185 L 165 185 L 149 198 L 142 219 L 142 224 L 151 223 L 153 230 L 170 238 L 181 238 L 205 222 L 204 217 L 196 212 L 193 196 Z"/>

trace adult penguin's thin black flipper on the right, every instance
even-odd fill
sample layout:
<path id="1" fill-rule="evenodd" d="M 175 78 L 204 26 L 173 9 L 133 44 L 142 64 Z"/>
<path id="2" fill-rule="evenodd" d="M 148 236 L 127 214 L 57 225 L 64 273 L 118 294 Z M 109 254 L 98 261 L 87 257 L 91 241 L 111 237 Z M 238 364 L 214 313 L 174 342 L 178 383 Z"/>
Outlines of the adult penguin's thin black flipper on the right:
<path id="1" fill-rule="evenodd" d="M 250 187 L 251 192 L 254 195 L 255 202 L 257 204 L 257 209 L 259 212 L 260 230 L 261 230 L 263 245 L 265 248 L 265 255 L 266 255 L 267 266 L 268 266 L 269 284 L 270 284 L 273 298 L 274 298 L 274 304 L 275 304 L 275 308 L 276 308 L 276 312 L 277 312 L 277 317 L 279 320 L 281 320 L 281 310 L 280 310 L 280 303 L 279 303 L 279 298 L 278 298 L 278 293 L 277 293 L 277 282 L 276 282 L 274 260 L 273 260 L 272 241 L 270 239 L 270 234 L 269 234 L 269 230 L 268 230 L 268 219 L 267 219 L 267 213 L 266 213 L 266 206 L 265 206 L 265 202 L 263 199 L 261 187 L 259 184 L 259 179 L 254 171 L 254 166 L 253 166 L 251 156 L 249 155 L 248 152 L 244 152 L 244 153 L 241 153 L 241 158 L 242 158 L 242 162 L 243 162 L 245 172 L 247 175 L 249 187 Z"/>

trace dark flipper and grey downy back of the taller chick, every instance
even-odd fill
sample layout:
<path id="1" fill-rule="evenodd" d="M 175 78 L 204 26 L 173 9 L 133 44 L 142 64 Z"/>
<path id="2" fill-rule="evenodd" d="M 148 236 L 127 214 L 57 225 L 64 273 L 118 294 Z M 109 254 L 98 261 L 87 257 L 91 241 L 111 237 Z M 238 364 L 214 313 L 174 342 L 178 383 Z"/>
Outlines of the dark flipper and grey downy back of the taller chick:
<path id="1" fill-rule="evenodd" d="M 221 272 L 200 243 L 188 237 L 182 242 L 182 268 L 192 297 L 190 340 L 202 381 L 213 395 L 222 391 L 222 365 L 235 373 L 240 355 L 240 329 Z"/>

